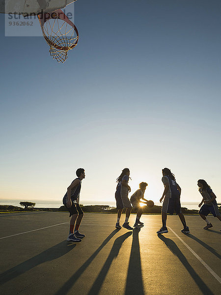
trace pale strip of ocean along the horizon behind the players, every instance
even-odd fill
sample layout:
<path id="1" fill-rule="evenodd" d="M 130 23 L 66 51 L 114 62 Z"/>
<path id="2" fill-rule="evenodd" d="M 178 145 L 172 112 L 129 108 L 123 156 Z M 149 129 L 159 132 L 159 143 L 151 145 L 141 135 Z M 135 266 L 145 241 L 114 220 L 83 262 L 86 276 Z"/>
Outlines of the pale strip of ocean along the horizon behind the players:
<path id="1" fill-rule="evenodd" d="M 23 200 L 24 201 L 24 200 Z M 20 202 L 23 202 L 21 200 L 7 200 L 7 199 L 0 199 L 0 205 L 12 205 L 12 206 L 18 206 L 21 207 L 19 204 Z M 63 206 L 62 201 L 51 201 L 51 200 L 38 200 L 38 201 L 27 201 L 27 202 L 33 202 L 35 203 L 36 208 L 59 208 Z M 97 201 L 97 202 L 91 202 L 91 201 L 80 201 L 80 204 L 83 204 L 84 206 L 87 205 L 109 205 L 110 207 L 116 207 L 115 201 Z M 188 209 L 198 209 L 199 202 L 182 202 L 181 207 L 186 207 Z M 161 206 L 160 202 L 156 202 L 155 205 Z"/>

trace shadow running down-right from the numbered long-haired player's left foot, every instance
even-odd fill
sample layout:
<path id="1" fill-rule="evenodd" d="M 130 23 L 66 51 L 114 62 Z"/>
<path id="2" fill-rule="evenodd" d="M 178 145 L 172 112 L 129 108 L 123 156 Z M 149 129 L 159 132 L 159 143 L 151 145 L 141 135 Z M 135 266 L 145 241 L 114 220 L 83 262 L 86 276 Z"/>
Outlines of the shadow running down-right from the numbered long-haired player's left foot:
<path id="1" fill-rule="evenodd" d="M 169 248 L 169 250 L 175 254 L 179 260 L 182 262 L 183 266 L 186 267 L 187 271 L 190 273 L 192 276 L 193 280 L 201 290 L 203 295 L 214 295 L 214 293 L 207 287 L 207 285 L 203 282 L 203 280 L 198 276 L 198 274 L 195 272 L 193 267 L 189 264 L 187 261 L 186 257 L 183 255 L 183 253 L 180 251 L 176 243 L 169 239 L 166 238 L 163 235 L 158 235 L 158 237 L 166 244 L 166 246 Z"/>

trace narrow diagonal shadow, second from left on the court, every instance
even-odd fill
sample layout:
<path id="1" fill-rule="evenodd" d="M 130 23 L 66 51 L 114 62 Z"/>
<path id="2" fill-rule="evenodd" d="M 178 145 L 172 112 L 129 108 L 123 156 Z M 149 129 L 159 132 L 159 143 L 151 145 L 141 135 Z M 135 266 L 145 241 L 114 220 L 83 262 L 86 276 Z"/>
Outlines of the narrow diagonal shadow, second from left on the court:
<path id="1" fill-rule="evenodd" d="M 69 292 L 78 278 L 83 274 L 84 270 L 91 264 L 94 258 L 98 253 L 104 248 L 104 246 L 110 241 L 110 239 L 117 233 L 119 230 L 114 230 L 103 243 L 97 248 L 97 250 L 84 262 L 84 264 L 71 276 L 71 278 L 55 293 L 55 295 L 65 295 Z"/>

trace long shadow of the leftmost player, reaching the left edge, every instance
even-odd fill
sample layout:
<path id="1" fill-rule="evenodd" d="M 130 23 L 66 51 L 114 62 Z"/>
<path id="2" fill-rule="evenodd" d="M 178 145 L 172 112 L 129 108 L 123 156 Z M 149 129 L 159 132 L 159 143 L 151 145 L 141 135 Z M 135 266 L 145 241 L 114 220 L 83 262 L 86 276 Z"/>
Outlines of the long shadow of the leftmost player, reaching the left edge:
<path id="1" fill-rule="evenodd" d="M 34 268 L 35 266 L 45 263 L 46 261 L 55 260 L 56 258 L 59 258 L 67 254 L 75 246 L 76 244 L 71 244 L 67 246 L 66 241 L 60 242 L 59 244 L 47 249 L 46 251 L 28 259 L 26 262 L 23 262 L 1 273 L 0 284 L 6 283 L 7 281 L 16 278 L 17 276 L 25 273 L 26 271 Z"/>

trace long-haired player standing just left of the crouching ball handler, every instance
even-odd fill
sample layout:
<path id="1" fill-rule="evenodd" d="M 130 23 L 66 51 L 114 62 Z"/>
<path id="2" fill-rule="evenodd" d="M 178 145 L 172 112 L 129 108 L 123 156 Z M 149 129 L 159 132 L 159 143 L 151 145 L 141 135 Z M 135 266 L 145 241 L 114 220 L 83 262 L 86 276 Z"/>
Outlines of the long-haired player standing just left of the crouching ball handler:
<path id="1" fill-rule="evenodd" d="M 116 207 L 118 208 L 117 212 L 117 222 L 116 222 L 116 228 L 121 229 L 120 226 L 120 217 L 121 213 L 123 211 L 123 208 L 126 209 L 126 217 L 125 217 L 125 222 L 122 225 L 127 230 L 133 230 L 133 228 L 129 225 L 128 219 L 131 214 L 131 203 L 130 200 L 128 199 L 128 192 L 131 191 L 130 186 L 128 185 L 128 180 L 130 176 L 130 170 L 128 168 L 124 168 L 122 170 L 122 173 L 119 177 L 117 177 L 117 187 L 116 187 L 116 192 L 115 192 L 115 199 L 116 199 Z"/>

